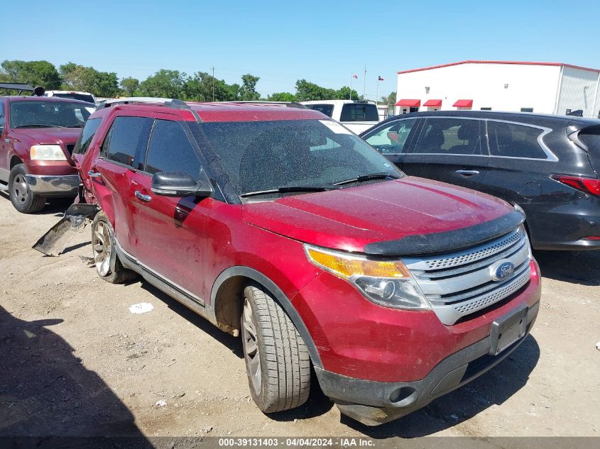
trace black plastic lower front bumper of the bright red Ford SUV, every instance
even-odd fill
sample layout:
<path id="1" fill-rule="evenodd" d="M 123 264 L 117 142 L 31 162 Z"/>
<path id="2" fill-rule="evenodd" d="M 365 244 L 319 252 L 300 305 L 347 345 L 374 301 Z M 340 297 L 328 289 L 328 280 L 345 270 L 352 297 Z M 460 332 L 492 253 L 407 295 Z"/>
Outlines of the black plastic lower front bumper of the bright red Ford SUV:
<path id="1" fill-rule="evenodd" d="M 376 382 L 339 375 L 319 367 L 315 367 L 315 372 L 322 391 L 336 402 L 342 414 L 368 426 L 378 426 L 426 406 L 504 360 L 528 336 L 539 309 L 539 301 L 528 308 L 525 335 L 498 355 L 490 354 L 494 352 L 496 342 L 489 335 L 449 355 L 418 381 Z"/>

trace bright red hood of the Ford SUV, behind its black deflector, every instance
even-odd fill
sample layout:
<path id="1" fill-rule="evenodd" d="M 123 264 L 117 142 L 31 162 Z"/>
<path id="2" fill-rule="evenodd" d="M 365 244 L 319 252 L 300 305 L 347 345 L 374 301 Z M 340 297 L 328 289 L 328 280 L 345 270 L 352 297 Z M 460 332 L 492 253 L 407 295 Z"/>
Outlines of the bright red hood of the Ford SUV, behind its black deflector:
<path id="1" fill-rule="evenodd" d="M 371 253 L 365 251 L 366 245 L 411 235 L 418 239 L 422 235 L 449 233 L 468 227 L 478 229 L 481 240 L 481 231 L 485 235 L 487 225 L 478 225 L 489 221 L 497 224 L 498 220 L 503 220 L 500 217 L 513 211 L 505 201 L 474 190 L 430 179 L 404 177 L 245 204 L 243 216 L 246 223 L 301 242 Z M 513 220 L 504 226 L 517 225 Z M 492 228 L 497 226 L 489 227 L 491 235 L 487 238 L 496 236 Z M 450 249 L 453 248 L 447 248 Z"/>

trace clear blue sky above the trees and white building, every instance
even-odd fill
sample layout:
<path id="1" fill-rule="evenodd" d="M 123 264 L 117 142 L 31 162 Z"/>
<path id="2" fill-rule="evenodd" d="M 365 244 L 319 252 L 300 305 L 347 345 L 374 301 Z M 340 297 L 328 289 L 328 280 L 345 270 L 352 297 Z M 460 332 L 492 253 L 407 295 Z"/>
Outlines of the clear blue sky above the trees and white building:
<path id="1" fill-rule="evenodd" d="M 40 11 L 39 17 L 33 11 Z M 29 1 L 3 21 L 0 60 L 91 65 L 140 80 L 161 68 L 258 92 L 297 79 L 373 98 L 396 72 L 460 60 L 567 62 L 600 68 L 600 1 Z"/>

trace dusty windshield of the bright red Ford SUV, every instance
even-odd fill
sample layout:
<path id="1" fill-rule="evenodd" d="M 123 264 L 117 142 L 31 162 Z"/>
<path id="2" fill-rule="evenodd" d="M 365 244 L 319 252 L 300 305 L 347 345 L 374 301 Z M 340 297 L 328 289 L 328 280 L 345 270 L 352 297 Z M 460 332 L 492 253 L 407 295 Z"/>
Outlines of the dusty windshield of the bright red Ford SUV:
<path id="1" fill-rule="evenodd" d="M 238 194 L 281 187 L 322 187 L 403 174 L 363 140 L 332 120 L 197 123 L 201 148 L 214 151 Z"/>

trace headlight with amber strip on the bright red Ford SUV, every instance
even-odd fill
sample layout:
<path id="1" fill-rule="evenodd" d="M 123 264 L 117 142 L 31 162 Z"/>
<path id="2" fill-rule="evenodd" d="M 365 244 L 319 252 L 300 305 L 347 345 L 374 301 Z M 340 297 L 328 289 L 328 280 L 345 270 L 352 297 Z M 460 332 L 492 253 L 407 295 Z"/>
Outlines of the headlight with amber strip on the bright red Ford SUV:
<path id="1" fill-rule="evenodd" d="M 431 308 L 400 260 L 371 260 L 310 245 L 305 245 L 305 251 L 310 262 L 346 279 L 376 304 L 395 309 Z"/>

